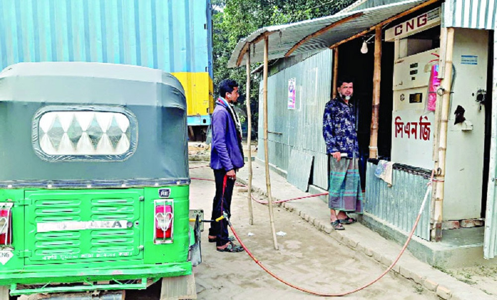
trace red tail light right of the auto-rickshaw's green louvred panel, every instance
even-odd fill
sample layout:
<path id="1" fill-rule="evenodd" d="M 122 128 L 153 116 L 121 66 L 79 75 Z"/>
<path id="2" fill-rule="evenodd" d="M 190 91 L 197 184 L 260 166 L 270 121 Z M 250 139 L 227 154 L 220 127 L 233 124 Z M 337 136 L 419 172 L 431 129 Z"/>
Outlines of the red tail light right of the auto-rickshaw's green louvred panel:
<path id="1" fill-rule="evenodd" d="M 154 243 L 172 243 L 174 211 L 173 202 L 169 200 L 155 200 L 155 231 Z"/>

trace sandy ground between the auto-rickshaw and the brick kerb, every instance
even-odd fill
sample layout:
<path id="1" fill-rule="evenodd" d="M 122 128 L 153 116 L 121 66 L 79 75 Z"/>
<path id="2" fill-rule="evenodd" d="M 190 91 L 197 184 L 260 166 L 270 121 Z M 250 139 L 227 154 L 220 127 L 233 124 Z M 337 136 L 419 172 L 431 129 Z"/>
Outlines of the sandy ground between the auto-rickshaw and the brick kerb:
<path id="1" fill-rule="evenodd" d="M 205 165 L 199 163 L 191 166 Z M 209 168 L 192 169 L 191 177 L 213 178 Z M 274 187 L 276 188 L 276 187 Z M 190 208 L 202 208 L 210 216 L 214 183 L 192 181 Z M 248 225 L 247 193 L 235 188 L 232 223 L 252 253 L 271 271 L 298 286 L 338 293 L 355 289 L 383 272 L 376 261 L 339 245 L 295 214 L 275 207 L 279 250 L 272 244 L 267 206 L 253 204 L 254 225 Z M 354 226 L 349 225 L 349 226 Z M 202 234 L 203 263 L 195 268 L 198 299 L 316 299 L 283 285 L 267 275 L 246 253 L 222 253 L 208 243 L 208 227 Z M 248 233 L 253 233 L 248 236 Z M 413 282 L 393 273 L 347 299 L 437 299 Z"/>

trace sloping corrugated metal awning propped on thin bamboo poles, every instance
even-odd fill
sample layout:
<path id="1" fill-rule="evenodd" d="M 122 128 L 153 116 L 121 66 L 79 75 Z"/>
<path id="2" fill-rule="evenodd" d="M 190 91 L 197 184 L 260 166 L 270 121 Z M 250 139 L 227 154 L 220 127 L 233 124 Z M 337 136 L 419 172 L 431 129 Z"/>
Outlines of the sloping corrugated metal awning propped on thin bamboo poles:
<path id="1" fill-rule="evenodd" d="M 242 39 L 238 42 L 235 50 L 232 53 L 232 56 L 228 63 L 228 67 L 236 67 L 239 55 L 243 51 L 245 44 L 247 42 L 256 40 L 261 34 L 273 32 L 273 34 L 269 35 L 268 37 L 269 60 L 282 58 L 285 56 L 288 50 L 290 50 L 296 43 L 304 39 L 306 36 L 348 16 L 359 12 L 363 13 L 359 17 L 352 18 L 347 22 L 341 23 L 331 28 L 326 33 L 309 39 L 299 48 L 297 48 L 292 54 L 295 55 L 304 52 L 318 52 L 320 50 L 328 48 L 336 42 L 344 40 L 392 16 L 395 16 L 403 11 L 417 6 L 422 2 L 425 2 L 425 0 L 408 0 L 373 8 L 355 10 L 351 12 L 340 12 L 331 16 L 286 25 L 276 25 L 260 28 L 252 32 L 247 38 Z M 252 44 L 250 47 L 250 51 L 250 59 L 252 62 L 262 62 L 264 40 L 262 39 Z M 243 58 L 241 62 L 241 65 L 245 64 L 245 58 Z"/>

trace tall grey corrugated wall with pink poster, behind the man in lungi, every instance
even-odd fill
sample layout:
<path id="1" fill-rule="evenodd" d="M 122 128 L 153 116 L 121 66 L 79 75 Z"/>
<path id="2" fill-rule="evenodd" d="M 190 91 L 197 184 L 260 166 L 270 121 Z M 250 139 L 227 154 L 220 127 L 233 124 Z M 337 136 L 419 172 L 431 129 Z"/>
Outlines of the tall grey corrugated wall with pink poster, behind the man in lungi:
<path id="1" fill-rule="evenodd" d="M 268 78 L 269 163 L 287 171 L 292 149 L 314 156 L 313 184 L 328 189 L 328 157 L 322 134 L 323 112 L 331 94 L 332 51 L 322 51 Z M 287 108 L 288 80 L 296 78 L 296 108 Z M 259 91 L 259 151 L 264 160 L 262 83 Z"/>

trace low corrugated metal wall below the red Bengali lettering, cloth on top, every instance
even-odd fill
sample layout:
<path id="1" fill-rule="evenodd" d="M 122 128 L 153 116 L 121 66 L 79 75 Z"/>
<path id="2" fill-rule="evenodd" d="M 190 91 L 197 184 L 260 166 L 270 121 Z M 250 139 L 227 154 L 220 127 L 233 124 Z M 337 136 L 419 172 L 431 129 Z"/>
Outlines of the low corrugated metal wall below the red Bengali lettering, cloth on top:
<path id="1" fill-rule="evenodd" d="M 365 211 L 386 222 L 411 232 L 417 213 L 426 193 L 429 179 L 406 171 L 393 170 L 392 187 L 374 175 L 376 165 L 368 162 L 366 171 Z M 430 205 L 424 206 L 414 234 L 425 240 L 430 239 Z"/>

